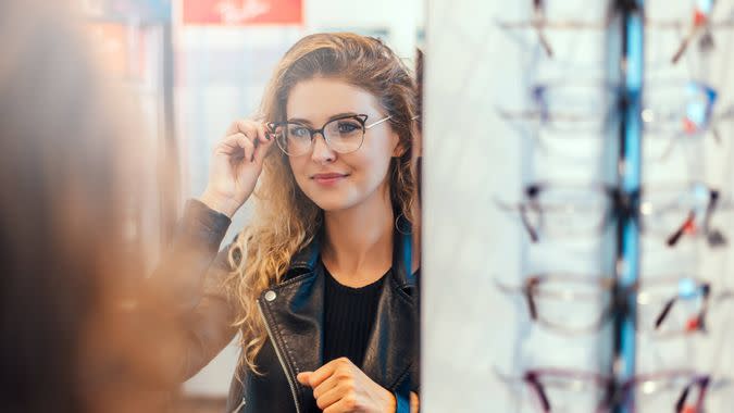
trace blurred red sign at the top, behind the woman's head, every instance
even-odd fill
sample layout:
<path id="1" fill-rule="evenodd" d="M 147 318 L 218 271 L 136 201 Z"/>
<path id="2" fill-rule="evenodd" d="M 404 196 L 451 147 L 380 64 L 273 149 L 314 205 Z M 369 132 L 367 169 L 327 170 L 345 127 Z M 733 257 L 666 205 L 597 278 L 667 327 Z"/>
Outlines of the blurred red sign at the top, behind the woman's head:
<path id="1" fill-rule="evenodd" d="M 303 0 L 183 0 L 184 24 L 301 24 Z"/>

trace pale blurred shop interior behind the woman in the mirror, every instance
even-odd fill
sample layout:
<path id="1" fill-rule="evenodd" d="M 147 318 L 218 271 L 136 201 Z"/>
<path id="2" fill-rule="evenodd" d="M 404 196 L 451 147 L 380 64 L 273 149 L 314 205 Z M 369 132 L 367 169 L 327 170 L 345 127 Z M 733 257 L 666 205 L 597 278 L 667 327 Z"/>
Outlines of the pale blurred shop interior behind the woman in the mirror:
<path id="1" fill-rule="evenodd" d="M 146 189 L 159 211 L 181 211 L 207 183 L 215 141 L 235 120 L 257 111 L 276 62 L 304 35 L 354 32 L 385 40 L 409 65 L 424 42 L 421 0 L 79 0 L 99 61 L 111 80 L 129 88 L 150 137 Z M 148 203 L 150 204 L 150 202 Z M 225 237 L 246 224 L 238 212 Z M 148 251 L 170 239 L 164 214 L 138 220 Z M 160 223 L 160 224 L 159 224 Z M 151 256 L 149 268 L 157 258 Z M 182 410 L 221 411 L 237 361 L 227 347 L 182 389 Z"/>

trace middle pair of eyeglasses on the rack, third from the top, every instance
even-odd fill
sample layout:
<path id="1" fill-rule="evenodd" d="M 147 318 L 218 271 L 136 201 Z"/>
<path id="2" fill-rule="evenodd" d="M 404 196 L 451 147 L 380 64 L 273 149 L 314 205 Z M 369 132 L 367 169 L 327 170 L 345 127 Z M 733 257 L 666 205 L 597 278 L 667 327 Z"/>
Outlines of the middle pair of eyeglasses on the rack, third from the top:
<path id="1" fill-rule="evenodd" d="M 712 247 L 726 245 L 724 235 L 710 225 L 714 212 L 729 209 L 718 190 L 701 183 L 687 186 L 651 186 L 622 196 L 604 184 L 531 184 L 523 199 L 508 203 L 495 199 L 505 211 L 518 212 L 531 240 L 600 235 L 621 214 L 630 214 L 640 231 L 663 238 L 674 247 L 683 237 L 705 236 Z"/>

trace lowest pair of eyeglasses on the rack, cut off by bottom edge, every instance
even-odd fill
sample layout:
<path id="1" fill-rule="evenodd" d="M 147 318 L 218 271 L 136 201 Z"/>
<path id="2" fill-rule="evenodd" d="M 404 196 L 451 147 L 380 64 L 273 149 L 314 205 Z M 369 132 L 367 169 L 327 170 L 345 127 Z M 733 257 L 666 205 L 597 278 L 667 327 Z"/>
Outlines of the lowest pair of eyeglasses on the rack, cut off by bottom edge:
<path id="1" fill-rule="evenodd" d="M 520 376 L 495 370 L 508 386 L 522 385 L 543 413 L 607 413 L 613 405 L 635 405 L 656 413 L 704 413 L 708 393 L 731 385 L 689 370 L 640 374 L 621 384 L 610 376 L 577 370 L 534 368 Z"/>

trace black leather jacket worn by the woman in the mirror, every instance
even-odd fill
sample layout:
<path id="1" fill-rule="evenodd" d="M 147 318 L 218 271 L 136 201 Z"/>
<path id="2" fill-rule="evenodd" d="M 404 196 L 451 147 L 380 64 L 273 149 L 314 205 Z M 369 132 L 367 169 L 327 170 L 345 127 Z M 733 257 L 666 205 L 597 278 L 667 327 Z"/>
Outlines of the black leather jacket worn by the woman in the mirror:
<path id="1" fill-rule="evenodd" d="M 216 249 L 229 220 L 198 201 L 189 202 L 173 249 L 152 277 L 177 302 L 188 333 L 182 378 L 203 367 L 236 331 L 234 303 L 221 289 L 228 272 L 226 249 Z M 312 389 L 296 375 L 323 365 L 324 268 L 320 241 L 299 251 L 278 285 L 258 300 L 269 340 L 257 358 L 262 375 L 240 366 L 232 379 L 227 412 L 296 412 L 314 405 Z M 419 392 L 418 288 L 411 274 L 412 240 L 395 233 L 393 271 L 383 283 L 377 314 L 361 370 L 393 391 L 398 412 L 409 412 L 410 391 Z M 241 380 L 239 378 L 241 378 Z"/>

